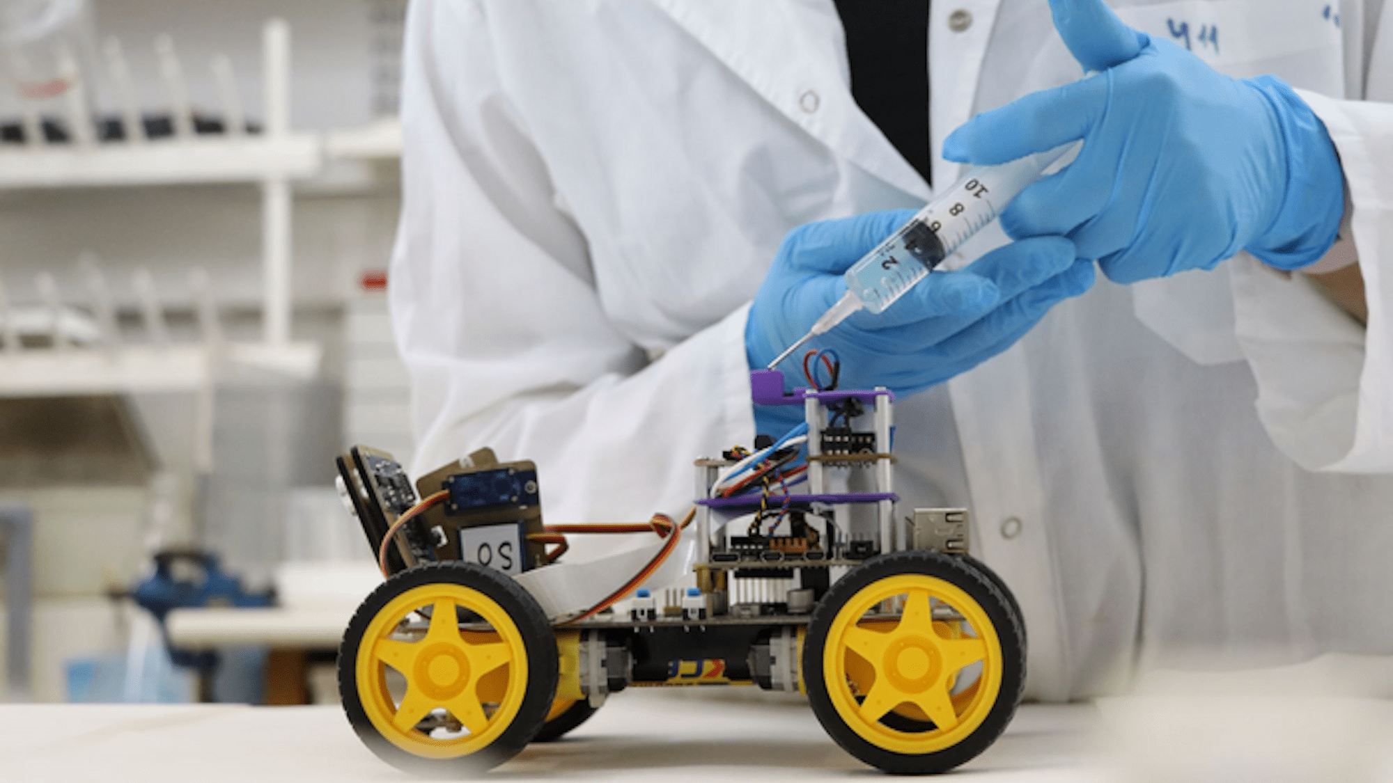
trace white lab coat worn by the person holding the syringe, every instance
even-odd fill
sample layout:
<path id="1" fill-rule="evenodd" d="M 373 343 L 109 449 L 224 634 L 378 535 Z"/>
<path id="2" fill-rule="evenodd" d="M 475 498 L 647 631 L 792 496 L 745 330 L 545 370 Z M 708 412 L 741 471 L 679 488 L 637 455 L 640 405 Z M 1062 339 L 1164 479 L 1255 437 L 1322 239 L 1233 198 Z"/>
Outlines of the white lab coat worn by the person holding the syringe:
<path id="1" fill-rule="evenodd" d="M 1393 100 L 1393 13 L 1113 6 L 1308 91 L 1344 162 L 1368 330 L 1247 256 L 1100 281 L 900 403 L 901 509 L 975 510 L 1038 698 L 1188 646 L 1393 652 L 1393 478 L 1351 475 L 1393 470 L 1393 106 L 1375 103 Z M 1080 70 L 1043 0 L 942 0 L 929 75 L 937 150 Z M 747 302 L 784 233 L 931 195 L 857 109 L 830 0 L 418 0 L 403 117 L 391 305 L 414 467 L 485 444 L 536 460 L 552 521 L 685 509 L 691 460 L 751 440 Z M 956 174 L 935 160 L 935 181 Z"/>

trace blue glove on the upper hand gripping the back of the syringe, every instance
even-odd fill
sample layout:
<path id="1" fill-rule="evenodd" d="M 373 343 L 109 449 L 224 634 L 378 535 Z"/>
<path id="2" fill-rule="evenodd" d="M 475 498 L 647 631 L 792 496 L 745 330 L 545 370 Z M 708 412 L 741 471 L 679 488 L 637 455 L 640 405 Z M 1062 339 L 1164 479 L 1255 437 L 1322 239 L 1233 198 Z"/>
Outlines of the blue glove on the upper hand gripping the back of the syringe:
<path id="1" fill-rule="evenodd" d="M 943 144 L 949 160 L 996 164 L 1084 139 L 1078 160 L 1004 210 L 1007 234 L 1063 234 L 1119 283 L 1212 269 L 1240 249 L 1300 269 L 1330 249 L 1344 173 L 1291 88 L 1219 74 L 1102 0 L 1050 8 L 1074 59 L 1100 72 L 979 114 Z"/>

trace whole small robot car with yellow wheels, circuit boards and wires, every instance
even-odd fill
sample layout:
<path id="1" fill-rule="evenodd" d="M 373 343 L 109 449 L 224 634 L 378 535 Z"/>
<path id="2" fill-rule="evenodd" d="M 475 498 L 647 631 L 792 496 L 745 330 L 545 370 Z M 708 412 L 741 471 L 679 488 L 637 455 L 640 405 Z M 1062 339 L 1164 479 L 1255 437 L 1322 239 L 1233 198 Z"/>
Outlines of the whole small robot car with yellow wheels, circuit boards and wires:
<path id="1" fill-rule="evenodd" d="M 549 616 L 524 587 L 564 549 L 532 463 L 482 450 L 414 490 L 390 454 L 340 457 L 340 492 L 387 574 L 338 655 L 362 741 L 405 770 L 478 773 L 627 687 L 756 684 L 807 694 L 839 745 L 892 773 L 944 772 L 995 743 L 1024 688 L 1020 607 L 968 555 L 965 510 L 896 524 L 893 394 L 787 393 L 776 371 L 751 386 L 756 404 L 804 408 L 807 492 L 786 481 L 801 468 L 780 472 L 801 435 L 696 460 L 695 587 L 621 588 L 618 610 L 592 616 Z"/>

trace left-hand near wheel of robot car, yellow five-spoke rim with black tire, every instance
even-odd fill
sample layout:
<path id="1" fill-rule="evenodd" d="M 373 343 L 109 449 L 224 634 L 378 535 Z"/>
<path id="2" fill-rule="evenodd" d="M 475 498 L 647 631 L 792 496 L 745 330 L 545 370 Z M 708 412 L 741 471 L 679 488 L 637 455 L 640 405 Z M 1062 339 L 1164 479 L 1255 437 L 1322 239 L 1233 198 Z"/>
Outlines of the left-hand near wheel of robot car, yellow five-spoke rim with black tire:
<path id="1" fill-rule="evenodd" d="M 542 607 L 506 574 L 419 566 L 383 582 L 348 623 L 338 692 L 358 737 L 408 772 L 478 772 L 521 751 L 556 695 Z"/>

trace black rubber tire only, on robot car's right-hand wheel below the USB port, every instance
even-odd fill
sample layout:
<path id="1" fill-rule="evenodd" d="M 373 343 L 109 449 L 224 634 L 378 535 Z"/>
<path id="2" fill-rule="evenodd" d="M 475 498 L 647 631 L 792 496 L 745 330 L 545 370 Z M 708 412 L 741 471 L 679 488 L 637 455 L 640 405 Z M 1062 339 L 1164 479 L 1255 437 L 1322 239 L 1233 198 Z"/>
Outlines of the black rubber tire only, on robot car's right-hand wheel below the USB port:
<path id="1" fill-rule="evenodd" d="M 982 724 L 961 743 L 929 754 L 910 755 L 880 748 L 848 726 L 832 702 L 822 677 L 823 648 L 837 612 L 872 582 L 900 574 L 925 574 L 957 585 L 986 613 L 1002 642 L 1002 687 Z M 804 683 L 814 715 L 827 734 L 848 754 L 892 775 L 936 775 L 967 763 L 1002 736 L 1015 715 L 1025 690 L 1025 637 L 1020 613 L 1011 599 L 974 561 L 937 552 L 894 552 L 866 560 L 839 580 L 818 602 L 808 623 L 802 648 Z M 843 687 L 839 684 L 839 687 Z M 892 713 L 894 715 L 894 713 Z M 900 730 L 932 727 L 903 716 Z M 892 719 L 894 720 L 894 719 Z M 887 723 L 889 724 L 889 723 Z"/>

